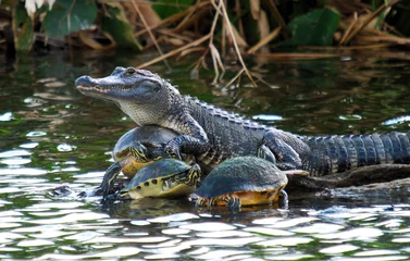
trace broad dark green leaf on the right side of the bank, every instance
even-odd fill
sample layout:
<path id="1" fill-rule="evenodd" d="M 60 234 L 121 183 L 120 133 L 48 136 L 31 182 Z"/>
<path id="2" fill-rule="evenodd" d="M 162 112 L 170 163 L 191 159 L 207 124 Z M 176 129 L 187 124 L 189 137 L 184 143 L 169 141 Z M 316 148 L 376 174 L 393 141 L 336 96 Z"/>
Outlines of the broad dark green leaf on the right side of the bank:
<path id="1" fill-rule="evenodd" d="M 340 15 L 328 8 L 297 16 L 289 23 L 293 44 L 297 46 L 330 46 Z"/>

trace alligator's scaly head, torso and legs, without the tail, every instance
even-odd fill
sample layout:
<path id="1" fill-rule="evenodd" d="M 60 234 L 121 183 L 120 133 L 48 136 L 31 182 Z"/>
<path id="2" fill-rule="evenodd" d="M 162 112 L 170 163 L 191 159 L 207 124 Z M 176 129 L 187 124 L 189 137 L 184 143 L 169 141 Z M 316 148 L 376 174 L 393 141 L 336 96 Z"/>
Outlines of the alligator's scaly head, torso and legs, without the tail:
<path id="1" fill-rule="evenodd" d="M 259 156 L 282 170 L 300 169 L 309 147 L 295 135 L 182 96 L 170 82 L 145 70 L 116 67 L 110 76 L 75 82 L 87 96 L 115 102 L 139 126 L 159 125 L 179 134 L 165 151 L 197 156 L 213 167 L 237 156 Z"/>

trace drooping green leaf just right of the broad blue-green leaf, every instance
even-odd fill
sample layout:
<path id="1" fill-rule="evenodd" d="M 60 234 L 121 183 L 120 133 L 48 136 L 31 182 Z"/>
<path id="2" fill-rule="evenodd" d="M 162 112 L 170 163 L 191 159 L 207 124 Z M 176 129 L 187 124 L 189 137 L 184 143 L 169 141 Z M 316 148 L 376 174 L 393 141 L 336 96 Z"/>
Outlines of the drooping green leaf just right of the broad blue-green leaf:
<path id="1" fill-rule="evenodd" d="M 115 3 L 105 4 L 105 12 L 107 14 L 101 22 L 101 29 L 108 33 L 119 47 L 142 50 L 122 7 Z"/>

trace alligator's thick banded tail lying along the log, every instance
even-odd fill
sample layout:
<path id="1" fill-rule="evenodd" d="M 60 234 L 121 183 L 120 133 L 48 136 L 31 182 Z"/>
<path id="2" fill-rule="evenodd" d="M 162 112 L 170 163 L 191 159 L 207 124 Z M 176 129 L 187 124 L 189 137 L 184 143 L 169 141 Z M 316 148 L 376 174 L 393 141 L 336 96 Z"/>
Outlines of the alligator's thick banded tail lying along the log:
<path id="1" fill-rule="evenodd" d="M 307 137 L 302 169 L 312 176 L 375 164 L 410 164 L 410 132 Z"/>

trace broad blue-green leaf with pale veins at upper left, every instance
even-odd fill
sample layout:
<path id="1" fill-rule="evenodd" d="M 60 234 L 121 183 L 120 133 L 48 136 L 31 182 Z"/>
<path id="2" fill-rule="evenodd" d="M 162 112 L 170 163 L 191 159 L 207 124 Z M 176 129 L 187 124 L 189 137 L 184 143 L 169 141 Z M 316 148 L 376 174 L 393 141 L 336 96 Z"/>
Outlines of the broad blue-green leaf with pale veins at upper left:
<path id="1" fill-rule="evenodd" d="M 42 21 L 42 28 L 50 38 L 61 38 L 73 32 L 87 29 L 97 17 L 95 1 L 57 0 Z"/>

